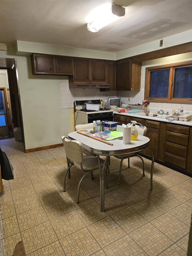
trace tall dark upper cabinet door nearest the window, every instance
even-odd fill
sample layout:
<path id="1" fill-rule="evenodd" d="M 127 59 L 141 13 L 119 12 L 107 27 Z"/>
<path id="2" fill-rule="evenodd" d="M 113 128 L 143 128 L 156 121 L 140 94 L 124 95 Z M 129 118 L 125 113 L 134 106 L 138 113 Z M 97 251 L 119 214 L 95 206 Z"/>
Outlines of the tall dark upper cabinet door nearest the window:
<path id="1" fill-rule="evenodd" d="M 131 91 L 131 59 L 116 62 L 116 89 Z"/>

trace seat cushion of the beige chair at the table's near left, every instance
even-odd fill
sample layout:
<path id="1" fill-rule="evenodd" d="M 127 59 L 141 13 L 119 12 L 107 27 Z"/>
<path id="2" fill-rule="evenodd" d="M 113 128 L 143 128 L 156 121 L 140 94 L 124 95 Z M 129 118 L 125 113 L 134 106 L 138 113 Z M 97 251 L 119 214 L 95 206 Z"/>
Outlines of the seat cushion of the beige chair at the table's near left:
<path id="1" fill-rule="evenodd" d="M 101 161 L 101 166 L 103 166 L 104 160 L 100 158 L 100 161 Z M 81 169 L 80 163 L 74 162 L 74 166 L 78 169 Z M 82 166 L 84 170 L 95 169 L 98 167 L 98 158 L 94 155 L 86 155 L 84 156 L 84 160 L 82 161 Z"/>

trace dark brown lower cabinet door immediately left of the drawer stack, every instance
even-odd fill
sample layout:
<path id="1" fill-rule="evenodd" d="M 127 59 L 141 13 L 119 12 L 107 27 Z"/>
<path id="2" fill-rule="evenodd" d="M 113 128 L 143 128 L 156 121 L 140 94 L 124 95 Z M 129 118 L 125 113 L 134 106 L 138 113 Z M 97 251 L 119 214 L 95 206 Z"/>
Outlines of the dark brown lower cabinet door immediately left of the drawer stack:
<path id="1" fill-rule="evenodd" d="M 150 139 L 149 146 L 153 150 L 154 157 L 158 158 L 159 155 L 159 129 L 147 127 L 146 137 Z M 143 154 L 150 155 L 150 149 L 146 148 L 143 151 Z"/>

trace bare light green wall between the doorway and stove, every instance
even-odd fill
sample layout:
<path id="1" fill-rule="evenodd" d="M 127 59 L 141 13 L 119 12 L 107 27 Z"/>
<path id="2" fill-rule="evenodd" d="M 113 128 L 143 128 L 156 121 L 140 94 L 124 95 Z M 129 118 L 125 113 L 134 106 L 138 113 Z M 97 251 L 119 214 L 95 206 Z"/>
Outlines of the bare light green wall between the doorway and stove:
<path id="1" fill-rule="evenodd" d="M 71 109 L 61 109 L 60 82 L 68 77 L 32 75 L 30 57 L 0 52 L 0 58 L 16 58 L 26 149 L 62 143 L 73 129 Z"/>

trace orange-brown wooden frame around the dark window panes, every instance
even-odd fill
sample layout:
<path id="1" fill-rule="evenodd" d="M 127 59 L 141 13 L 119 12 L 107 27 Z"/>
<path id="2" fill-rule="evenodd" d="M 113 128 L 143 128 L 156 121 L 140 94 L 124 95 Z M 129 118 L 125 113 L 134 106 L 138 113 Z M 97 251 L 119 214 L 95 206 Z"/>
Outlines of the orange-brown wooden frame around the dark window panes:
<path id="1" fill-rule="evenodd" d="M 192 98 L 181 99 L 181 98 L 172 98 L 173 95 L 173 80 L 174 80 L 174 69 L 181 68 L 182 66 L 192 65 L 192 61 L 171 63 L 166 65 L 159 65 L 153 67 L 147 67 L 145 72 L 145 93 L 144 98 L 149 100 L 150 102 L 157 103 L 173 103 L 173 104 L 192 104 Z M 149 97 L 149 84 L 150 84 L 150 72 L 156 70 L 163 70 L 166 68 L 170 68 L 170 79 L 169 79 L 169 89 L 168 89 L 168 98 L 152 98 Z"/>

